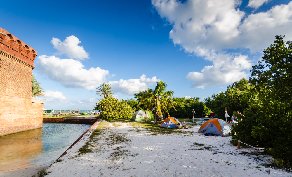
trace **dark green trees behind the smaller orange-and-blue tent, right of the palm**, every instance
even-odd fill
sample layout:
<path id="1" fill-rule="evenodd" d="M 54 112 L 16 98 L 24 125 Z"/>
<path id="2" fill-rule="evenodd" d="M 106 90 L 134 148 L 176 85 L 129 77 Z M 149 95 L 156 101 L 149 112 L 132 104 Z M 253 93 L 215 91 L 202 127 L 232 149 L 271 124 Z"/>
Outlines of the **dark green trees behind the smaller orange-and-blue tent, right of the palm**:
<path id="1" fill-rule="evenodd" d="M 193 117 L 193 109 L 196 111 L 195 117 L 203 117 L 204 110 L 208 112 L 205 104 L 200 101 L 199 97 L 185 99 L 185 97 L 174 97 L 175 109 L 170 109 L 169 115 L 175 118 Z"/>

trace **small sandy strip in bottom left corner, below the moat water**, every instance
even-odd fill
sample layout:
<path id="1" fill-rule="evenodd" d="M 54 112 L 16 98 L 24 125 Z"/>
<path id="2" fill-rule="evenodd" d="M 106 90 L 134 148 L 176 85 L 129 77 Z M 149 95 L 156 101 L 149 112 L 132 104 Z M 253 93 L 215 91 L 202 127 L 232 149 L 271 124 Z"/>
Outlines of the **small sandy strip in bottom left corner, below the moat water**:
<path id="1" fill-rule="evenodd" d="M 8 171 L 0 173 L 0 177 L 31 177 L 37 173 L 37 169 L 47 169 L 48 166 L 39 166 L 34 168 L 27 168 L 22 170 Z"/>

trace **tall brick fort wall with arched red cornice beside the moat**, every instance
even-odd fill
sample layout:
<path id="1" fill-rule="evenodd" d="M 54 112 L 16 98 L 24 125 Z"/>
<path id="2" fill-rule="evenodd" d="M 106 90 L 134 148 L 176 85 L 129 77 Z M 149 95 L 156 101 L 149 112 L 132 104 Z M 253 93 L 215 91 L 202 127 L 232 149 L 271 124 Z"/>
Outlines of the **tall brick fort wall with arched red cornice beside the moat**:
<path id="1" fill-rule="evenodd" d="M 0 28 L 0 136 L 42 127 L 41 101 L 32 101 L 36 50 Z"/>

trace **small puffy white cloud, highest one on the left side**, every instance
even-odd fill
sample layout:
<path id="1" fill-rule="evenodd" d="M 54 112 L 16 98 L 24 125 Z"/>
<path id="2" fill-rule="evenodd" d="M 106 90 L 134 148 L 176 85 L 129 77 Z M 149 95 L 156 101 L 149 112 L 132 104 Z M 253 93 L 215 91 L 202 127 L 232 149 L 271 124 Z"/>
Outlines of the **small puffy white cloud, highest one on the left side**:
<path id="1" fill-rule="evenodd" d="M 63 42 L 60 39 L 53 37 L 51 43 L 54 45 L 54 48 L 59 51 L 55 53 L 56 55 L 65 54 L 69 58 L 76 58 L 78 60 L 89 58 L 88 53 L 82 46 L 79 46 L 81 41 L 79 41 L 76 36 L 68 36 Z"/>

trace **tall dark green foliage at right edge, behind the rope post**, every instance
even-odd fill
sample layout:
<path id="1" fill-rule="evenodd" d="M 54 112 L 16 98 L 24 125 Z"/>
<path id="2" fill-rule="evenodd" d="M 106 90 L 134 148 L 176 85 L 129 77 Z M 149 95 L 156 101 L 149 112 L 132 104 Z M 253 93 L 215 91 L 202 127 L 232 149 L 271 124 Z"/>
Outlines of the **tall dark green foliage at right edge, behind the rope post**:
<path id="1" fill-rule="evenodd" d="M 292 43 L 276 36 L 253 66 L 244 109 L 245 117 L 234 125 L 232 143 L 241 140 L 265 147 L 274 165 L 289 167 L 292 160 Z"/>

